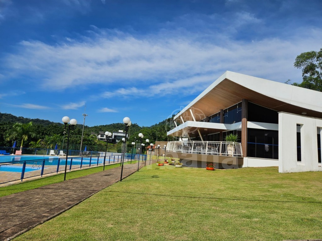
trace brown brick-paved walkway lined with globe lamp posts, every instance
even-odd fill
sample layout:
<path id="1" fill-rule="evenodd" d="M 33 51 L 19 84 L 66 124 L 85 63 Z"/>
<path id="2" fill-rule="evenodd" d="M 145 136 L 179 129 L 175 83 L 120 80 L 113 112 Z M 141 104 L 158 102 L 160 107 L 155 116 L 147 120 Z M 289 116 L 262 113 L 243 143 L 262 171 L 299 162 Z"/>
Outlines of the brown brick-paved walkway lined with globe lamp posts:
<path id="1" fill-rule="evenodd" d="M 156 160 L 151 161 L 155 163 Z M 147 161 L 149 164 L 149 161 Z M 140 168 L 144 162 L 140 162 Z M 123 167 L 125 178 L 137 164 Z M 0 240 L 10 240 L 120 180 L 121 167 L 0 197 Z M 67 174 L 68 175 L 68 174 Z"/>

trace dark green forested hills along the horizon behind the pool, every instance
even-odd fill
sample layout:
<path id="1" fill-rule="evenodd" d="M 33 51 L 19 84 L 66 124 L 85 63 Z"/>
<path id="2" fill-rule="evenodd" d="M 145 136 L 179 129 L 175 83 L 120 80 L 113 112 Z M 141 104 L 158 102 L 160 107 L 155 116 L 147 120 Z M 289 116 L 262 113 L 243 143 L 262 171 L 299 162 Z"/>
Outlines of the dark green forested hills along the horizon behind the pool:
<path id="1" fill-rule="evenodd" d="M 24 141 L 24 147 L 30 147 L 36 146 L 32 144 L 33 142 L 39 142 L 43 143 L 46 142 L 47 146 L 48 143 L 51 143 L 50 141 L 47 141 L 50 139 L 50 137 L 62 137 L 63 136 L 63 124 L 58 122 L 52 122 L 48 120 L 41 120 L 41 119 L 30 119 L 30 118 L 24 118 L 22 116 L 14 116 L 12 114 L 7 113 L 0 113 L 0 147 L 9 147 L 12 146 L 14 140 L 17 141 L 17 145 L 20 145 L 21 138 L 16 136 L 14 137 L 12 135 L 12 130 L 15 123 L 21 123 L 21 124 L 27 124 L 29 122 L 32 122 L 32 133 L 33 135 L 29 135 L 28 138 Z M 171 124 L 172 123 L 172 124 Z M 82 124 L 77 124 L 76 127 L 73 130 L 73 134 L 71 137 L 71 142 L 74 143 L 74 148 L 76 145 L 79 145 L 81 143 L 81 136 L 82 136 Z M 172 118 L 166 119 L 164 121 L 161 121 L 157 124 L 154 124 L 149 127 L 140 127 L 137 124 L 132 124 L 131 127 L 128 129 L 129 139 L 128 143 L 131 143 L 138 139 L 138 134 L 141 132 L 144 135 L 144 141 L 146 139 L 149 139 L 150 142 L 155 143 L 155 141 L 165 141 L 165 140 L 173 140 L 173 137 L 168 137 L 166 135 L 166 132 L 173 128 L 173 120 Z M 100 131 L 118 131 L 123 130 L 125 131 L 125 125 L 123 123 L 112 123 L 108 125 L 99 125 L 99 126 L 86 126 L 84 128 L 84 145 L 92 145 L 96 143 L 97 139 L 92 138 L 91 133 L 94 132 L 96 134 L 99 134 Z M 11 137 L 10 137 L 11 136 Z M 95 136 L 94 136 L 95 137 Z M 59 143 L 60 140 L 53 140 L 51 145 Z M 40 146 L 44 147 L 45 144 L 39 144 Z M 95 144 L 97 147 L 97 143 Z M 102 147 L 104 149 L 104 143 L 102 143 Z M 37 146 L 38 148 L 38 146 Z M 97 147 L 98 148 L 98 147 Z M 96 149 L 97 149 L 96 148 Z"/>

